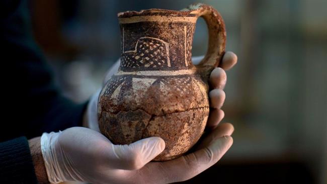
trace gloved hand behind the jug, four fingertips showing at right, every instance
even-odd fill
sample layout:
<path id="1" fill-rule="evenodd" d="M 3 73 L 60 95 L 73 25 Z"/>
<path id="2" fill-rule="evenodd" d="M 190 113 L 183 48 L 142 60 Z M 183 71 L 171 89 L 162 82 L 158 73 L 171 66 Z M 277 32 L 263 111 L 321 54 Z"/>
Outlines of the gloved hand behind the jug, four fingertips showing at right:
<path id="1" fill-rule="evenodd" d="M 194 64 L 198 64 L 203 56 L 192 57 Z M 237 56 L 233 52 L 226 52 L 222 58 L 219 67 L 212 70 L 209 83 L 211 91 L 209 93 L 210 99 L 210 114 L 207 121 L 207 128 L 213 129 L 218 123 L 223 119 L 224 112 L 220 109 L 225 101 L 225 93 L 223 88 L 226 84 L 226 72 L 224 70 L 229 70 L 237 62 Z M 119 68 L 120 61 L 118 60 L 113 67 L 107 72 L 103 84 L 105 84 L 112 75 L 114 75 Z M 101 89 L 91 97 L 86 111 L 85 126 L 100 132 L 98 123 L 98 99 Z"/>

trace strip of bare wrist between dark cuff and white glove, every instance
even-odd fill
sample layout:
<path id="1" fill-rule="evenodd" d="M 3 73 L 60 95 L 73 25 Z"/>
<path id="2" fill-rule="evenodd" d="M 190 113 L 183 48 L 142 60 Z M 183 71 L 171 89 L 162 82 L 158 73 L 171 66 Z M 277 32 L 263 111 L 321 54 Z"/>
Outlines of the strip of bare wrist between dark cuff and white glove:
<path id="1" fill-rule="evenodd" d="M 43 184 L 43 183 L 49 183 L 49 181 L 48 181 L 48 176 L 42 157 L 40 140 L 41 137 L 35 137 L 33 139 L 30 139 L 28 143 L 31 150 L 31 155 L 32 155 L 32 160 L 33 160 L 33 165 L 34 165 L 37 180 L 40 184 Z"/>

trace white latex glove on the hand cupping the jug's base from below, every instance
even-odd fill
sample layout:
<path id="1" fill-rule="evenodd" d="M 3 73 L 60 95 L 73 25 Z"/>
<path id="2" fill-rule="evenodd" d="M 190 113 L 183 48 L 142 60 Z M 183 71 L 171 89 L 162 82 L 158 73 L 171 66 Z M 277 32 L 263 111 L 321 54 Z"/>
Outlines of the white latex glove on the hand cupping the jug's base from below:
<path id="1" fill-rule="evenodd" d="M 187 180 L 216 163 L 231 146 L 232 132 L 231 124 L 221 124 L 202 141 L 201 149 L 165 162 L 149 162 L 165 149 L 161 138 L 114 145 L 83 127 L 44 133 L 41 150 L 52 183 L 169 183 Z"/>

